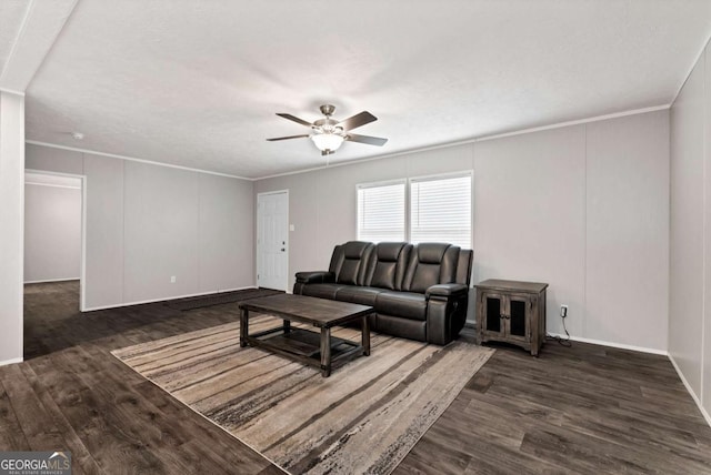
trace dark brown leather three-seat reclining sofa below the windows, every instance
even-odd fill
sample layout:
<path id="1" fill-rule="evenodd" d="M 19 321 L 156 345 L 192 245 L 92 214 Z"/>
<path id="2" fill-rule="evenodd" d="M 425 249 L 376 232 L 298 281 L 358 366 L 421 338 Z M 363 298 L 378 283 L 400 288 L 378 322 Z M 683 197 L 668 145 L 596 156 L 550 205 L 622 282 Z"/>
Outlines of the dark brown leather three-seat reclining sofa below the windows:
<path id="1" fill-rule="evenodd" d="M 445 243 L 350 241 L 328 272 L 299 272 L 294 294 L 371 305 L 372 330 L 444 345 L 467 320 L 472 251 Z"/>

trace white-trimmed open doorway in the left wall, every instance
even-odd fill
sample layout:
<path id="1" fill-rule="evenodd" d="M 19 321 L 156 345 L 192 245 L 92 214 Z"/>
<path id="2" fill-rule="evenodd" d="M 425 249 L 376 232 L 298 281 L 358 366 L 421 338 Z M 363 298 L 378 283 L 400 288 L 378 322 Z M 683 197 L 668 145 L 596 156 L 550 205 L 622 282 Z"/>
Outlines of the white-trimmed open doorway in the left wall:
<path id="1" fill-rule="evenodd" d="M 24 283 L 79 281 L 84 310 L 86 176 L 26 170 Z"/>

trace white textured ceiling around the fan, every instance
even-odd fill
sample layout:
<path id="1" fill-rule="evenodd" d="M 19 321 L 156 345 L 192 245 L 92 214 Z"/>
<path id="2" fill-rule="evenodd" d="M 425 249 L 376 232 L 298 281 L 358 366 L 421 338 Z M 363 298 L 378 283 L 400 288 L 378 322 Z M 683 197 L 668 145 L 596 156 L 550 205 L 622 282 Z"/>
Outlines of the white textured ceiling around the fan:
<path id="1" fill-rule="evenodd" d="M 80 0 L 27 138 L 260 178 L 324 164 L 276 112 L 377 115 L 334 163 L 665 105 L 710 33 L 709 0 Z"/>

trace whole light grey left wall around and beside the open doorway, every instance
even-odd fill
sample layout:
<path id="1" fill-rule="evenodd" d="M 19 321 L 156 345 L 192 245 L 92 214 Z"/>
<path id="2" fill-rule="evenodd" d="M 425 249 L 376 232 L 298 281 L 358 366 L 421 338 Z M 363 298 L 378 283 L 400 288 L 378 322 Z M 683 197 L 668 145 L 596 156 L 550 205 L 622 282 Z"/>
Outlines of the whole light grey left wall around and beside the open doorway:
<path id="1" fill-rule="evenodd" d="M 254 285 L 251 182 L 32 144 L 27 168 L 87 176 L 87 310 Z"/>

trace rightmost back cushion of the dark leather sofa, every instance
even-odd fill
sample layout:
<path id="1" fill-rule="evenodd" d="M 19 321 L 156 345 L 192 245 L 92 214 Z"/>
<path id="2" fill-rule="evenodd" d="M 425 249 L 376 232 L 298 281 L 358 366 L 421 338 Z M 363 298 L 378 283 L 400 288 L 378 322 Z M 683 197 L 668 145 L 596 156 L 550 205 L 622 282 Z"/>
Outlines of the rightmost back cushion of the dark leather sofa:
<path id="1" fill-rule="evenodd" d="M 457 282 L 460 249 L 445 243 L 420 243 L 410 254 L 402 290 L 424 293 L 430 286 Z"/>

